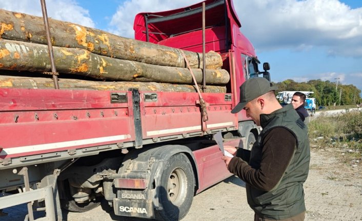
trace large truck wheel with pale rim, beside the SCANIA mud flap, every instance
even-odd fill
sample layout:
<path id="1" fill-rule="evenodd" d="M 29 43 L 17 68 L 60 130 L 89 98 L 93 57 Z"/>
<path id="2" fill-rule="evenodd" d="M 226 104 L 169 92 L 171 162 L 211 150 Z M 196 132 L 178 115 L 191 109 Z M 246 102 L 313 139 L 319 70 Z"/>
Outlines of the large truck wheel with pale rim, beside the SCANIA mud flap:
<path id="1" fill-rule="evenodd" d="M 194 174 L 192 166 L 183 153 L 171 156 L 161 176 L 158 191 L 160 209 L 156 210 L 157 220 L 180 220 L 188 213 L 194 195 Z"/>

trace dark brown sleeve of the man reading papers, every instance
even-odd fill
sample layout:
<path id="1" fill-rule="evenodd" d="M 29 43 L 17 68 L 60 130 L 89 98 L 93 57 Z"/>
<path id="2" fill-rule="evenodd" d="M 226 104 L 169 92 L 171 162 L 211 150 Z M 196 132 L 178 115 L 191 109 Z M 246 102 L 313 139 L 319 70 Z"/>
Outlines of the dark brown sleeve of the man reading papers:
<path id="1" fill-rule="evenodd" d="M 296 151 L 296 139 L 285 128 L 271 129 L 263 141 L 262 157 L 259 168 L 253 168 L 249 162 L 248 151 L 238 151 L 230 160 L 228 169 L 249 185 L 264 191 L 272 190 L 285 173 Z M 247 161 L 245 161 L 247 160 Z"/>

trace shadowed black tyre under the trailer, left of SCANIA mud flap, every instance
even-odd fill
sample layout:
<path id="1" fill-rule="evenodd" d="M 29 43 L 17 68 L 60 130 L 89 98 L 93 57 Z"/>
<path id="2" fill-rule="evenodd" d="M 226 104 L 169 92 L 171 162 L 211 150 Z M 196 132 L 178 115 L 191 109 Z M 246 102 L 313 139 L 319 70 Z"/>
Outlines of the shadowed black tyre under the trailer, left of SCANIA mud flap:
<path id="1" fill-rule="evenodd" d="M 62 182 L 62 189 L 59 188 L 59 191 L 63 193 L 59 193 L 63 195 L 64 198 L 61 198 L 61 207 L 62 209 L 68 210 L 70 212 L 87 212 L 92 210 L 100 205 L 100 198 L 95 197 L 89 203 L 76 203 L 74 198 L 70 195 L 69 183 L 68 180 L 64 180 Z"/>

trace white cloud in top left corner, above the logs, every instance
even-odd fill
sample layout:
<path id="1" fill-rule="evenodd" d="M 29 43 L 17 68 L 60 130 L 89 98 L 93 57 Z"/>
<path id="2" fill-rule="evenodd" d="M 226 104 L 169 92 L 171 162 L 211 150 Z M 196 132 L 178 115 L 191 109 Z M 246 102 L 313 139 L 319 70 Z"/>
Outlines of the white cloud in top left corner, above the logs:
<path id="1" fill-rule="evenodd" d="M 88 10 L 79 6 L 74 0 L 47 0 L 46 6 L 48 17 L 87 27 L 94 27 L 94 22 L 90 18 Z M 42 7 L 39 0 L 1 0 L 0 8 L 42 16 Z"/>

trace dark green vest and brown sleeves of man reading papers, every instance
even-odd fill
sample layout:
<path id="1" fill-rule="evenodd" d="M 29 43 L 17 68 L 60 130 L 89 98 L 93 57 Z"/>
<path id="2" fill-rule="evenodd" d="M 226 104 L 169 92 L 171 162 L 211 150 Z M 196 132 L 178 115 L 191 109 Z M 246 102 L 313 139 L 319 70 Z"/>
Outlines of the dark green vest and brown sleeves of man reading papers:
<path id="1" fill-rule="evenodd" d="M 248 203 L 260 217 L 290 218 L 306 211 L 307 128 L 292 105 L 260 115 L 260 124 L 263 130 L 250 152 L 249 164 L 233 157 L 228 169 L 246 182 Z"/>

